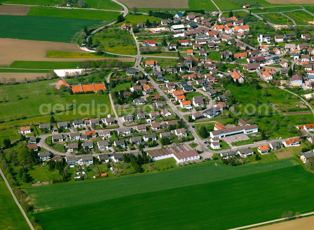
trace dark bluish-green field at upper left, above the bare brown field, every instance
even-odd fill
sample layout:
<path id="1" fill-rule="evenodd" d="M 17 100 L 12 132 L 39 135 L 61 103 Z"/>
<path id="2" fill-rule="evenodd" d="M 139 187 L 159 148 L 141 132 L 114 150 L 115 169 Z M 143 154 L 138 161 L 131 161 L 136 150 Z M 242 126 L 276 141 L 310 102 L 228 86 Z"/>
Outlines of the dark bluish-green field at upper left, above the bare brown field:
<path id="1" fill-rule="evenodd" d="M 0 15 L 0 21 L 2 21 L 1 38 L 66 43 L 71 43 L 84 25 L 93 27 L 103 23 L 101 20 L 15 15 Z"/>

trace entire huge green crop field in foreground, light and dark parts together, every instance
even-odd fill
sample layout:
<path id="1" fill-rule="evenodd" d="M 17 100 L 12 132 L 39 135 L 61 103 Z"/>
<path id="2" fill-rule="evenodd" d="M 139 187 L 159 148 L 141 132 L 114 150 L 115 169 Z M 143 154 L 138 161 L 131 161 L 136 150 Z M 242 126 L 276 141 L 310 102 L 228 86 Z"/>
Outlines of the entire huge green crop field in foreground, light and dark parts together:
<path id="1" fill-rule="evenodd" d="M 311 196 L 303 196 L 314 185 L 313 177 L 289 158 L 237 167 L 211 162 L 26 190 L 35 202 L 35 218 L 48 230 L 76 229 L 77 225 L 82 229 L 220 230 L 280 218 L 287 210 L 313 211 Z"/>

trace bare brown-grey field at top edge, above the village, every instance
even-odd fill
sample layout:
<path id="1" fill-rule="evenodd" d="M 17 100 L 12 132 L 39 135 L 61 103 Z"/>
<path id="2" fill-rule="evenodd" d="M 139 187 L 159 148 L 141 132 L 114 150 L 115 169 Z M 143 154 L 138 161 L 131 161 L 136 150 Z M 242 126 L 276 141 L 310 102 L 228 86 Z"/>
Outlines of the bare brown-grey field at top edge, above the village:
<path id="1" fill-rule="evenodd" d="M 151 1 L 147 0 L 121 0 L 121 3 L 124 3 L 129 8 L 138 7 L 138 8 L 189 8 L 188 0 L 171 0 L 164 2 L 161 0 L 154 1 L 152 4 Z"/>

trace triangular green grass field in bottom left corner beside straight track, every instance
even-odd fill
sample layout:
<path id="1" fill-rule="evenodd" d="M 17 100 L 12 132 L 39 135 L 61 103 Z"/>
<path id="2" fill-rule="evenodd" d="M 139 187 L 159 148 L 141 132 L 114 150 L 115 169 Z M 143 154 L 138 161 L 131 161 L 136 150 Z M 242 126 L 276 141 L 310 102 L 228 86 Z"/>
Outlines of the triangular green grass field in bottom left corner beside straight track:
<path id="1" fill-rule="evenodd" d="M 26 230 L 30 229 L 25 218 L 23 217 L 19 207 L 16 205 L 13 197 L 8 190 L 8 187 L 4 183 L 0 176 L 0 205 L 1 205 L 1 218 L 0 229 L 2 230 Z"/>

